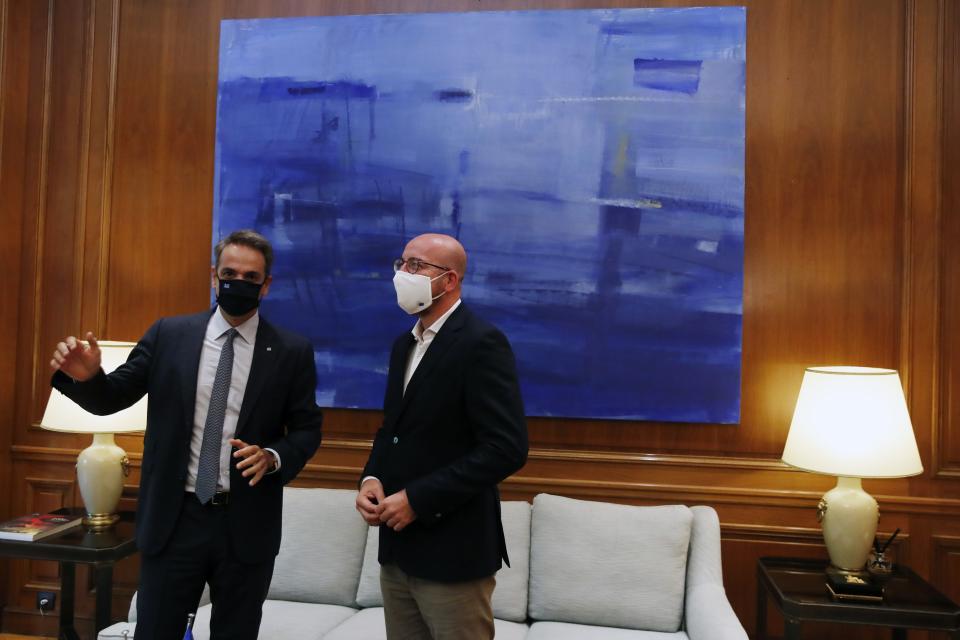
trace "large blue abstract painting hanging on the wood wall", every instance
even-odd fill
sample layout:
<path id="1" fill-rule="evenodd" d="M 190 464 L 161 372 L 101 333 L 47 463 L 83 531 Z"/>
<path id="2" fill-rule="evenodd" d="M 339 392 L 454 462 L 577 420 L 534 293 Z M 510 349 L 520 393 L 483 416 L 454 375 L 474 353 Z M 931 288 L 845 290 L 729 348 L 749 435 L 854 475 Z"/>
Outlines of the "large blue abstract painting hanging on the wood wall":
<path id="1" fill-rule="evenodd" d="M 273 242 L 322 406 L 381 407 L 432 231 L 529 415 L 735 423 L 745 64 L 743 7 L 223 21 L 214 241 Z"/>

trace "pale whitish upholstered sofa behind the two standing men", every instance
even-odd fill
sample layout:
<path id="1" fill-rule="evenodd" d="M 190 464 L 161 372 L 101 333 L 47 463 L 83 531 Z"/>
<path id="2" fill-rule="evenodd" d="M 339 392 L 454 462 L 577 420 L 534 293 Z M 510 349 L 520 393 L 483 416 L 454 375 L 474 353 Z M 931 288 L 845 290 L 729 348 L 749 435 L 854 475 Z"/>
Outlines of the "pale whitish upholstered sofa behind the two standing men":
<path id="1" fill-rule="evenodd" d="M 287 488 L 283 543 L 263 610 L 262 640 L 384 640 L 377 530 L 356 492 Z M 727 601 L 720 527 L 710 507 L 634 507 L 538 495 L 504 502 L 512 561 L 497 574 L 504 640 L 746 640 Z M 132 638 L 128 622 L 99 640 Z M 208 640 L 210 605 L 197 612 Z M 124 635 L 126 633 L 127 635 Z"/>

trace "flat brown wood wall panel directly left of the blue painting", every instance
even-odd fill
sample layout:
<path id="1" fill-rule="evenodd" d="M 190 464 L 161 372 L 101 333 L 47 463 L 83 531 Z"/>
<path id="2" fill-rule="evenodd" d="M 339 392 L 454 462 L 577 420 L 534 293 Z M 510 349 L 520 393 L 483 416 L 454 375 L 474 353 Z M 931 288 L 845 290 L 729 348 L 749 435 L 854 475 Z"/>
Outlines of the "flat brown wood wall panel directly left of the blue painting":
<path id="1" fill-rule="evenodd" d="M 210 301 L 218 3 L 125 2 L 107 327 L 139 338 Z"/>

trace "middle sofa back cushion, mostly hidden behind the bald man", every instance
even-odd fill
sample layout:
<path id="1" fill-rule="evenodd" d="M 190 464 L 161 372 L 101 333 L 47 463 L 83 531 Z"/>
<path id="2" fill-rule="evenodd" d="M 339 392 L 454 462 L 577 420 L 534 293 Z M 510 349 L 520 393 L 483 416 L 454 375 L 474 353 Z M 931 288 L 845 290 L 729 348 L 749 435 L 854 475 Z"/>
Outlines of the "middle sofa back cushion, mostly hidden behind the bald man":
<path id="1" fill-rule="evenodd" d="M 523 501 L 500 503 L 503 533 L 510 554 L 510 566 L 497 572 L 493 591 L 493 615 L 501 620 L 523 622 L 527 619 L 527 591 L 530 579 L 530 504 Z M 382 607 L 380 594 L 380 531 L 370 527 L 367 548 L 363 554 L 363 570 L 357 588 L 359 607 Z"/>

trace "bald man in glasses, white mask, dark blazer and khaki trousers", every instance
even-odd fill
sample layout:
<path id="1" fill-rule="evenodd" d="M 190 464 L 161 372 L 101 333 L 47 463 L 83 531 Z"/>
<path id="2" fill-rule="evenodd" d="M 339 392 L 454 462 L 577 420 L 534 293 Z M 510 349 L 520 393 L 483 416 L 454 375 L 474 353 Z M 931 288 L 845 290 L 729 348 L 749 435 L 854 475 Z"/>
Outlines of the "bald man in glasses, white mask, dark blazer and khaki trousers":
<path id="1" fill-rule="evenodd" d="M 506 560 L 497 484 L 527 459 L 527 427 L 506 337 L 460 301 L 467 266 L 450 236 L 411 240 L 394 264 L 401 308 L 383 426 L 357 510 L 380 526 L 391 640 L 493 638 L 494 574 Z"/>

